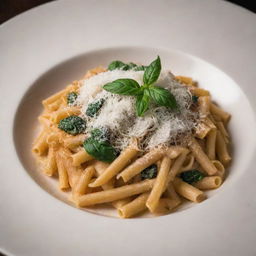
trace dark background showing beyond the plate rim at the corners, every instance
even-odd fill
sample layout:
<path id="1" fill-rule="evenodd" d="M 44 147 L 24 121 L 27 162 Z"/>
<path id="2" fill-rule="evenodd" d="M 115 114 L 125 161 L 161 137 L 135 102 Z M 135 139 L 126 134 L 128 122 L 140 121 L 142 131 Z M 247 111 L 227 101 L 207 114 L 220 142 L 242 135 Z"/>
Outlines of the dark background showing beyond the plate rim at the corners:
<path id="1" fill-rule="evenodd" d="M 35 6 L 38 6 L 47 2 L 52 2 L 52 1 L 53 0 L 0 0 L 0 24 Z M 251 1 L 232 0 L 228 2 L 238 4 L 256 13 L 256 4 L 253 0 Z M 1 254 L 0 252 L 0 256 L 4 256 L 4 255 Z"/>

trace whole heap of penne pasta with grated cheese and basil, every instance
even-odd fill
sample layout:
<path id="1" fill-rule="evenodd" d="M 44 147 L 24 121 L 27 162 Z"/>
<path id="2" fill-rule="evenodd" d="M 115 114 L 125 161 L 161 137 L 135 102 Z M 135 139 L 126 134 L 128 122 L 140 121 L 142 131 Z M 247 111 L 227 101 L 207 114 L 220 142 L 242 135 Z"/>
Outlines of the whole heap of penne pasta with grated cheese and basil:
<path id="1" fill-rule="evenodd" d="M 230 114 L 191 78 L 162 70 L 159 57 L 89 70 L 42 103 L 33 152 L 77 207 L 166 214 L 223 183 Z"/>

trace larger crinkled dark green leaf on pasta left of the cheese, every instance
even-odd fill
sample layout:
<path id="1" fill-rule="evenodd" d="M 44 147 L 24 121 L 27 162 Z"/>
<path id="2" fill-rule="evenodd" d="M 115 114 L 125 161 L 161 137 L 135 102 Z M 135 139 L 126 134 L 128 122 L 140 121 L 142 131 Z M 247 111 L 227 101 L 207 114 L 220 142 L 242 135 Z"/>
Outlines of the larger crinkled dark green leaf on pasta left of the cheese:
<path id="1" fill-rule="evenodd" d="M 68 134 L 77 135 L 85 131 L 86 122 L 79 116 L 69 116 L 60 120 L 58 128 Z"/>

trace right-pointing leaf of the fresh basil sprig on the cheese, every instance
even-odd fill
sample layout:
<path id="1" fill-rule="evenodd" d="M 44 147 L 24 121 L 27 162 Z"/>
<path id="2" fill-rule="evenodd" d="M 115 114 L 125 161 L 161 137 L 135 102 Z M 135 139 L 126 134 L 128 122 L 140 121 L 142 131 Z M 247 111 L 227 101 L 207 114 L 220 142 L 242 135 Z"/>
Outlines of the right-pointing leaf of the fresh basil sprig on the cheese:
<path id="1" fill-rule="evenodd" d="M 178 107 L 177 101 L 173 94 L 167 89 L 150 86 L 148 88 L 149 95 L 157 105 L 176 109 Z"/>

